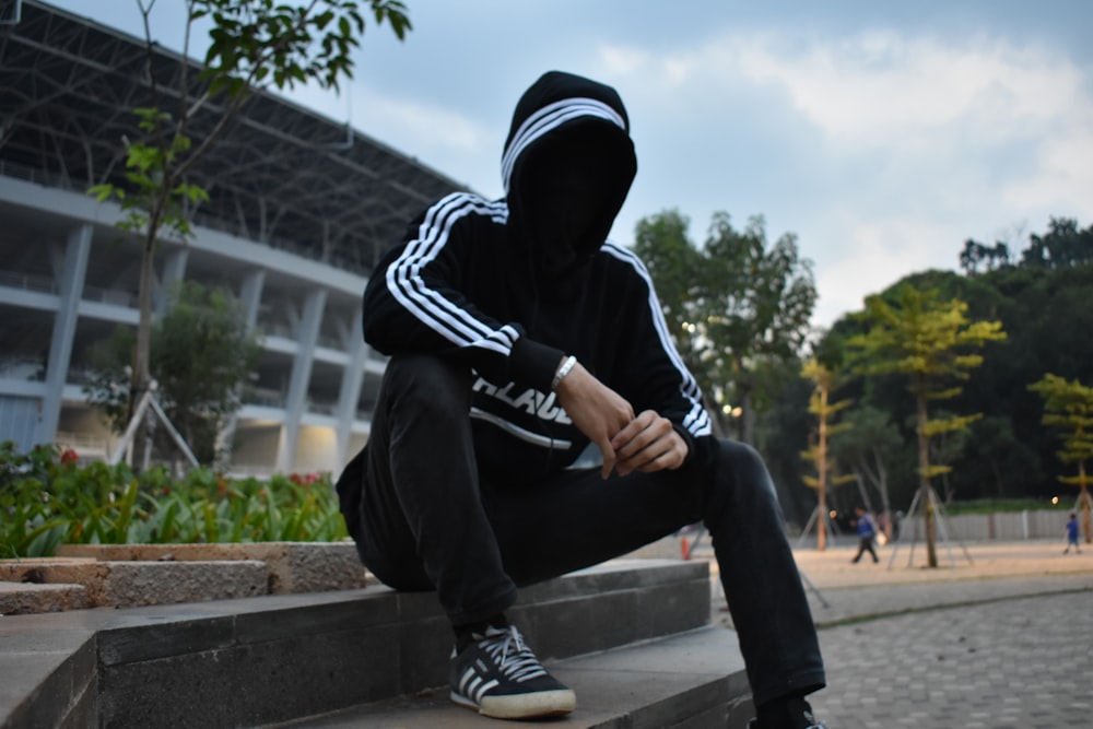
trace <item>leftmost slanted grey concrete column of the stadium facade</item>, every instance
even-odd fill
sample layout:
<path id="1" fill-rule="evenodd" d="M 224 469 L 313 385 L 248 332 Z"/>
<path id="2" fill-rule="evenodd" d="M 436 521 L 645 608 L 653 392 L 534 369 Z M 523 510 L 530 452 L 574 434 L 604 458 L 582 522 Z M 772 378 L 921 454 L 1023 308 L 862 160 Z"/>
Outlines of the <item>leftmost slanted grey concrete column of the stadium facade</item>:
<path id="1" fill-rule="evenodd" d="M 49 341 L 46 397 L 42 402 L 42 419 L 38 421 L 36 437 L 38 443 L 52 443 L 57 437 L 64 383 L 68 381 L 68 369 L 72 360 L 72 341 L 75 339 L 77 319 L 80 316 L 80 299 L 83 297 L 83 283 L 87 275 L 91 237 L 91 225 L 81 225 L 69 233 L 64 260 L 57 275 L 60 304 L 54 318 L 54 332 Z"/>

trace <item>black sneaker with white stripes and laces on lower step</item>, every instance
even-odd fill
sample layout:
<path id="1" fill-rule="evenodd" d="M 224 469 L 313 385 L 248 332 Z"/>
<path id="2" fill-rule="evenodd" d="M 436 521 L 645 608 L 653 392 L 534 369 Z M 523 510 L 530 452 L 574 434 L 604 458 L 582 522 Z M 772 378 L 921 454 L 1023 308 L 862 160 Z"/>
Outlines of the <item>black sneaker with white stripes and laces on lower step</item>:
<path id="1" fill-rule="evenodd" d="M 451 651 L 451 701 L 497 719 L 568 714 L 569 689 L 546 672 L 515 626 L 487 627 L 460 652 Z"/>

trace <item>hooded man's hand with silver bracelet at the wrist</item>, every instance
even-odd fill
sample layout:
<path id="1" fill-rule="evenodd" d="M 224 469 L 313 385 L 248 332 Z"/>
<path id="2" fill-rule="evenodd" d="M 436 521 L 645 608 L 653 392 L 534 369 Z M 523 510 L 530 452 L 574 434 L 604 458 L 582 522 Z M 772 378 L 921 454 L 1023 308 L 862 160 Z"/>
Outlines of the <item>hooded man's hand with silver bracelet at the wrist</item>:
<path id="1" fill-rule="evenodd" d="M 603 454 L 600 475 L 608 478 L 615 466 L 611 438 L 634 420 L 634 408 L 579 362 L 559 384 L 555 393 L 573 424 Z"/>

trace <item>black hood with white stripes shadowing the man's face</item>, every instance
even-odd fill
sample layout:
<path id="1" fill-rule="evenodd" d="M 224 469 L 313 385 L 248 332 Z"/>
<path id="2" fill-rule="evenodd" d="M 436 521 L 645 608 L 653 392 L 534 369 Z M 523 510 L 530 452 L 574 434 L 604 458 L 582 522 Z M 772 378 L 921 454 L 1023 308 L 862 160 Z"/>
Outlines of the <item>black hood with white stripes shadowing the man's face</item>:
<path id="1" fill-rule="evenodd" d="M 517 103 L 502 156 L 514 244 L 543 278 L 579 269 L 607 238 L 636 173 L 615 90 L 543 74 Z"/>

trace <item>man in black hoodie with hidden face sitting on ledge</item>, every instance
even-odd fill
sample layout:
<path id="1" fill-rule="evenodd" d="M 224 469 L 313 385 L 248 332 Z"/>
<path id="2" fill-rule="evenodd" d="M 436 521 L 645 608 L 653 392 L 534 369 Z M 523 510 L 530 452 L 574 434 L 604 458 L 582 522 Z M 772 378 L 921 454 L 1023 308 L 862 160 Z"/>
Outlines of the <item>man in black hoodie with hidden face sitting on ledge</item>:
<path id="1" fill-rule="evenodd" d="M 362 561 L 435 589 L 451 698 L 566 714 L 571 690 L 504 612 L 517 587 L 705 520 L 762 729 L 815 725 L 824 685 L 766 469 L 710 435 L 642 263 L 606 243 L 637 169 L 609 86 L 550 72 L 520 98 L 505 198 L 450 195 L 380 261 L 364 336 L 391 355 L 367 447 L 339 480 Z M 602 467 L 571 467 L 595 444 Z"/>

